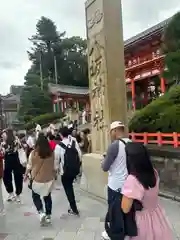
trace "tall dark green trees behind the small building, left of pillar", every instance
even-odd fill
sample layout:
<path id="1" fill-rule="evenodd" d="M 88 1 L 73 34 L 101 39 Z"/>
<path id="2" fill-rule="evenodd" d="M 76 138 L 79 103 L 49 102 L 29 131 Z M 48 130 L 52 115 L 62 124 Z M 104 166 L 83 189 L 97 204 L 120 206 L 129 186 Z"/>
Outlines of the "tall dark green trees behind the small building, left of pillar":
<path id="1" fill-rule="evenodd" d="M 55 60 L 58 84 L 88 86 L 86 40 L 76 36 L 67 38 L 66 33 L 59 32 L 55 23 L 46 17 L 37 22 L 36 34 L 29 40 L 32 47 L 28 57 L 32 64 L 25 76 L 19 111 L 19 115 L 27 119 L 52 111 L 48 83 L 56 82 Z"/>

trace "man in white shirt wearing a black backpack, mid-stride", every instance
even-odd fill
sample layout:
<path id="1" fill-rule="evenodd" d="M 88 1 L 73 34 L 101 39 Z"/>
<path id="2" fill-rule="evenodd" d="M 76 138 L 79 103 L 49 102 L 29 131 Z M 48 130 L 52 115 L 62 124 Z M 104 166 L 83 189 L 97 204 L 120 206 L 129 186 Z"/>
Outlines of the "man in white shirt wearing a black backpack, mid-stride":
<path id="1" fill-rule="evenodd" d="M 62 137 L 62 141 L 59 143 L 61 147 L 61 180 L 70 205 L 68 213 L 79 215 L 73 182 L 80 173 L 82 154 L 76 139 L 69 135 L 69 129 L 67 127 L 63 127 L 60 130 L 60 134 Z"/>

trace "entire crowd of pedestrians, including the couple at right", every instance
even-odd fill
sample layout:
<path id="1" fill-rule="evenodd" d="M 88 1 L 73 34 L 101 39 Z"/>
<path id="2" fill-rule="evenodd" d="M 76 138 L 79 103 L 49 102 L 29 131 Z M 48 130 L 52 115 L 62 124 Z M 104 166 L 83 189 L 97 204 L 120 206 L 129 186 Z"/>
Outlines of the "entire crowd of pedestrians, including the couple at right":
<path id="1" fill-rule="evenodd" d="M 123 123 L 115 121 L 111 124 L 111 144 L 102 159 L 102 170 L 108 172 L 108 211 L 102 238 L 172 240 L 171 228 L 158 199 L 158 173 L 147 148 L 131 142 L 125 133 Z M 4 131 L 0 145 L 0 184 L 3 179 L 9 194 L 7 201 L 20 203 L 23 180 L 29 179 L 28 187 L 40 223 L 49 224 L 53 205 L 51 192 L 60 175 L 69 202 L 68 213 L 79 216 L 73 183 L 82 175 L 82 154 L 91 152 L 89 135 L 88 129 L 79 133 L 72 124 L 60 130 L 50 126 L 46 134 L 37 126 L 28 137 L 17 136 L 12 129 Z"/>

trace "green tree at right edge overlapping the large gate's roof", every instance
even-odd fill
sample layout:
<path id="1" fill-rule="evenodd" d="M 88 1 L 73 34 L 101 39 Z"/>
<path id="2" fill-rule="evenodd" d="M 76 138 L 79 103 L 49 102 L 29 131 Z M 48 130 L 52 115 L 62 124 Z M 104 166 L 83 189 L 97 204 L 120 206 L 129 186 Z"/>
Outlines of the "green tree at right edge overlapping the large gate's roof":
<path id="1" fill-rule="evenodd" d="M 165 54 L 164 72 L 169 86 L 180 82 L 180 12 L 175 14 L 167 25 L 163 36 L 163 52 Z"/>

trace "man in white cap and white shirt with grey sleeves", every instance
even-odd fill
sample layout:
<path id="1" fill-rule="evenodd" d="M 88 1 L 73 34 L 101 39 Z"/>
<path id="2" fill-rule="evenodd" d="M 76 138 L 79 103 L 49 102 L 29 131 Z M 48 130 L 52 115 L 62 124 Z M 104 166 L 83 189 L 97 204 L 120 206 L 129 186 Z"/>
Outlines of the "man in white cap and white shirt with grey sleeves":
<path id="1" fill-rule="evenodd" d="M 107 154 L 102 161 L 102 169 L 108 172 L 108 206 L 110 207 L 118 196 L 120 199 L 120 190 L 128 176 L 126 165 L 125 144 L 130 141 L 125 136 L 125 126 L 120 121 L 112 122 L 110 125 L 110 137 L 112 143 L 109 145 Z M 110 237 L 104 231 L 102 239 L 110 240 Z"/>

